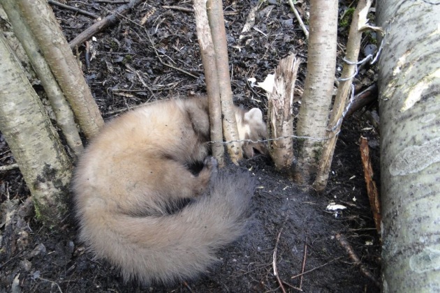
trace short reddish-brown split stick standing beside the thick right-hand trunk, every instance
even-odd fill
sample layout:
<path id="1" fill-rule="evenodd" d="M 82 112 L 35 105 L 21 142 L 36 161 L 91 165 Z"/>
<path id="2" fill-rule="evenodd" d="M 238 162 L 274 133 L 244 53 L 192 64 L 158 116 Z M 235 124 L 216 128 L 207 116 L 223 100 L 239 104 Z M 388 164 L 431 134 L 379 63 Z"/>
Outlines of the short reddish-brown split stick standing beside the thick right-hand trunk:
<path id="1" fill-rule="evenodd" d="M 362 159 L 362 167 L 364 169 L 365 184 L 367 184 L 367 194 L 369 205 L 371 206 L 374 224 L 376 225 L 377 233 L 381 234 L 381 203 L 379 201 L 379 192 L 377 190 L 376 182 L 373 180 L 372 162 L 369 158 L 368 140 L 365 137 L 360 137 L 360 158 Z"/>

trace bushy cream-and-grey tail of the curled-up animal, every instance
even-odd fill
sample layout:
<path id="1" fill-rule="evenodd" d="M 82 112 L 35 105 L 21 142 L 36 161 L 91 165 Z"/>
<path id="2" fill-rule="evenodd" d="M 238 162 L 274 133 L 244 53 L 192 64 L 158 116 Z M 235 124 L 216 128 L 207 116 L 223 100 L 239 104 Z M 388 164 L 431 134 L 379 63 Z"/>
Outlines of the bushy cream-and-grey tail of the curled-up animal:
<path id="1" fill-rule="evenodd" d="M 119 266 L 125 280 L 194 278 L 217 260 L 219 248 L 243 234 L 254 187 L 248 172 L 219 170 L 207 194 L 167 216 L 83 215 L 80 239 L 97 257 Z"/>

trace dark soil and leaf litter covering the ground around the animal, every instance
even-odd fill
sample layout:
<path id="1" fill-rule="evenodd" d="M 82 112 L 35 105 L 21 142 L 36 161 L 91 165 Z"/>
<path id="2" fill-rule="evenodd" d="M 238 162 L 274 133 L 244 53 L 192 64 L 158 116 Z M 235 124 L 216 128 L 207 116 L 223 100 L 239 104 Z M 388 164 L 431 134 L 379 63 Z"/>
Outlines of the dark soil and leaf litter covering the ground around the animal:
<path id="1" fill-rule="evenodd" d="M 264 3 L 257 13 L 256 29 L 239 40 L 249 10 L 257 2 L 223 1 L 235 102 L 264 112 L 267 99 L 263 91 L 251 88 L 247 79 L 263 81 L 289 52 L 307 58 L 307 40 L 288 5 L 281 2 Z M 308 2 L 298 2 L 305 20 Z M 349 3 L 339 2 L 342 14 Z M 67 4 L 101 16 L 120 5 L 92 0 Z M 147 0 L 115 26 L 96 33 L 96 40 L 89 41 L 89 61 L 85 61 L 85 45 L 78 47 L 85 76 L 105 119 L 153 100 L 205 92 L 193 13 L 163 8 L 165 5 L 191 8 L 191 1 Z M 68 40 L 94 23 L 90 17 L 57 6 L 54 12 Z M 146 22 L 140 26 L 142 20 Z M 340 29 L 342 44 L 346 33 L 347 28 Z M 163 65 L 154 50 L 164 63 L 198 78 Z M 300 67 L 298 88 L 303 87 L 305 67 L 305 63 Z M 369 85 L 369 72 L 361 70 L 356 82 L 359 88 Z M 60 227 L 50 229 L 22 208 L 24 228 L 17 232 L 5 227 L 6 204 L 25 202 L 29 190 L 18 170 L 0 172 L 0 292 L 281 292 L 274 263 L 287 292 L 379 292 L 372 279 L 380 280 L 380 243 L 363 178 L 361 135 L 369 138 L 379 183 L 378 137 L 359 112 L 343 123 L 330 180 L 322 194 L 295 186 L 274 170 L 269 158 L 245 160 L 242 165 L 259 181 L 249 233 L 222 250 L 219 263 L 205 276 L 168 287 L 124 284 L 117 269 L 93 260 L 78 243 L 71 216 Z M 15 163 L 12 153 L 0 135 L 0 165 L 11 163 Z M 331 202 L 346 209 L 328 211 Z M 372 278 L 354 263 L 337 234 L 348 241 Z"/>

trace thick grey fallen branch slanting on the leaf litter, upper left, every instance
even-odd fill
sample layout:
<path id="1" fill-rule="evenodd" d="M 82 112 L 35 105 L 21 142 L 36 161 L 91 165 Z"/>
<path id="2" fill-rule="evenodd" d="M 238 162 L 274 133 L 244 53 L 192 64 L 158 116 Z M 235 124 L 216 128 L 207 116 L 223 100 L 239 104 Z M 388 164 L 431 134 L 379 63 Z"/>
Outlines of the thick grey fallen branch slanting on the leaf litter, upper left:
<path id="1" fill-rule="evenodd" d="M 113 11 L 112 14 L 104 17 L 102 20 L 98 22 L 95 22 L 94 24 L 91 25 L 91 27 L 88 27 L 85 31 L 83 31 L 78 36 L 76 36 L 76 38 L 71 40 L 71 42 L 68 43 L 68 45 L 73 50 L 73 48 L 75 48 L 76 46 L 79 46 L 82 43 L 84 43 L 86 40 L 89 40 L 89 38 L 91 38 L 91 36 L 94 36 L 95 33 L 98 33 L 99 31 L 102 31 L 111 24 L 115 24 L 116 22 L 118 22 L 119 21 L 119 18 L 117 17 L 118 15 L 124 15 L 131 8 L 138 6 L 142 2 L 143 2 L 142 0 L 131 0 L 130 3 L 119 6 L 117 9 Z"/>

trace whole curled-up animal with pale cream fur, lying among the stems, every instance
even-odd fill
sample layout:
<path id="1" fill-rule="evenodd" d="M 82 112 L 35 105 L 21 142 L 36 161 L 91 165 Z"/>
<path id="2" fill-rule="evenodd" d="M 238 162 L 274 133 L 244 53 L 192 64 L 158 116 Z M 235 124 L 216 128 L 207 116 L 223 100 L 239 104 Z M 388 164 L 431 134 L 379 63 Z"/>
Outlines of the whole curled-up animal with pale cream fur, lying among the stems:
<path id="1" fill-rule="evenodd" d="M 236 111 L 240 138 L 263 138 L 261 112 Z M 147 105 L 107 123 L 81 156 L 72 183 L 80 241 L 124 280 L 193 278 L 242 234 L 253 179 L 217 172 L 208 121 L 203 97 Z"/>

